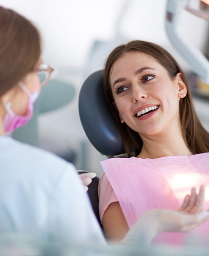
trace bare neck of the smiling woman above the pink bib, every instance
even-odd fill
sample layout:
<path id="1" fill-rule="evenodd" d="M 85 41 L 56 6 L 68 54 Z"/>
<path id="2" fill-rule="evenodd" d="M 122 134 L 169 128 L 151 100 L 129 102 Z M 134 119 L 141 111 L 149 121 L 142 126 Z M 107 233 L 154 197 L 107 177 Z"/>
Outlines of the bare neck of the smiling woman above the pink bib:
<path id="1" fill-rule="evenodd" d="M 181 128 L 173 132 L 169 129 L 158 135 L 144 136 L 140 135 L 143 140 L 143 147 L 139 158 L 159 158 L 163 156 L 189 156 L 192 152 L 188 149 L 182 136 Z"/>

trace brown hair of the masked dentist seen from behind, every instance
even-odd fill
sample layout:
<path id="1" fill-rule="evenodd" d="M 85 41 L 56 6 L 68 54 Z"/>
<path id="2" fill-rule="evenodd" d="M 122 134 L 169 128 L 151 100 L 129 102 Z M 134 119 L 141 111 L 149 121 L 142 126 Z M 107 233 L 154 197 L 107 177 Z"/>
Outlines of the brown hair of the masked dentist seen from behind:
<path id="1" fill-rule="evenodd" d="M 34 71 L 40 55 L 37 28 L 15 11 L 0 7 L 0 97 Z"/>

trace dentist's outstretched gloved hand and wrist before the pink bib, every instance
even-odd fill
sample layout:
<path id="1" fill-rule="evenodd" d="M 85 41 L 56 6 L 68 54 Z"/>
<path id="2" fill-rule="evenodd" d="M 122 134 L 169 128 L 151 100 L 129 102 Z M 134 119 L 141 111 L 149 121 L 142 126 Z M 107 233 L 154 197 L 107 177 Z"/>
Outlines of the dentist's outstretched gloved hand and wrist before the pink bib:
<path id="1" fill-rule="evenodd" d="M 191 231 L 209 219 L 209 210 L 203 210 L 205 188 L 201 186 L 199 194 L 192 188 L 191 195 L 185 196 L 178 210 L 152 209 L 144 212 L 121 241 L 133 244 L 137 238 L 150 245 L 160 232 Z"/>

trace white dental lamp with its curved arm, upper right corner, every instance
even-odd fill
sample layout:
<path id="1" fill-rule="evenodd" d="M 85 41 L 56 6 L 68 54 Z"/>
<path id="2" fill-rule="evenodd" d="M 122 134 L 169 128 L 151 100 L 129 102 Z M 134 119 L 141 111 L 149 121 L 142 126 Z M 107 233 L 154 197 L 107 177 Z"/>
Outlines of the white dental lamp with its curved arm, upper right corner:
<path id="1" fill-rule="evenodd" d="M 193 71 L 209 84 L 209 60 L 192 45 L 188 45 L 178 35 L 180 13 L 185 8 L 192 14 L 209 20 L 209 0 L 168 0 L 165 27 L 172 45 L 190 64 Z"/>

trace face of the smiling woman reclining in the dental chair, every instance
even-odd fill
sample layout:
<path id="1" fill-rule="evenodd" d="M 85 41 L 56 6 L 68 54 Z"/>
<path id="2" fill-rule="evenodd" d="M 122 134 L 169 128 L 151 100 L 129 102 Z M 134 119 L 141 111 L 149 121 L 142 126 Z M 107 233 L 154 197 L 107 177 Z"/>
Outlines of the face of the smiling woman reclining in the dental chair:
<path id="1" fill-rule="evenodd" d="M 153 57 L 125 53 L 113 64 L 110 84 L 121 123 L 140 135 L 155 135 L 176 121 L 180 124 L 179 99 L 186 95 L 181 74 L 171 80 Z"/>

